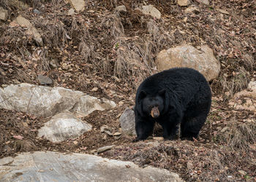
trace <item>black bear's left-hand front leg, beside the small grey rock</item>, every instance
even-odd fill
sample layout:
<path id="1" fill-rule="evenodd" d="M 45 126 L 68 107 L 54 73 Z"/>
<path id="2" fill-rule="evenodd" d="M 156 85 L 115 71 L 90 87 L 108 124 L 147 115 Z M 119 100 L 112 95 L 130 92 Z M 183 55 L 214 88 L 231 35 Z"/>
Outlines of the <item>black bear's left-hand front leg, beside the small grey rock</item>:
<path id="1" fill-rule="evenodd" d="M 142 119 L 140 116 L 135 117 L 135 130 L 137 138 L 134 141 L 146 140 L 153 133 L 154 122 L 151 119 Z"/>

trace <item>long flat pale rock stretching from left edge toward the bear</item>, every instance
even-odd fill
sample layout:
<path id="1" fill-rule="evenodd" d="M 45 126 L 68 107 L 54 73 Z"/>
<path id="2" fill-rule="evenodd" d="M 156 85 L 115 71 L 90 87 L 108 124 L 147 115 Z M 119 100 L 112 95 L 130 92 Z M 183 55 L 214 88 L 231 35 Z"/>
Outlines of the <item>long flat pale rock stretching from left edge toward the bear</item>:
<path id="1" fill-rule="evenodd" d="M 0 88 L 0 108 L 23 111 L 35 116 L 53 116 L 71 111 L 81 116 L 108 110 L 116 103 L 105 98 L 94 98 L 83 92 L 63 87 L 44 87 L 34 84 L 11 84 Z"/>

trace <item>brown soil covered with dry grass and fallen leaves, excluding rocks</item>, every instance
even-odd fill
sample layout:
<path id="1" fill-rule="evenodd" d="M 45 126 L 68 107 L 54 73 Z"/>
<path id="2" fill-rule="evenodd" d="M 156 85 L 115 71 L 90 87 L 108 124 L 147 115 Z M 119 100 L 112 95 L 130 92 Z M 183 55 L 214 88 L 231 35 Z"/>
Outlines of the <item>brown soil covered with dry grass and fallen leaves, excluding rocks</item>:
<path id="1" fill-rule="evenodd" d="M 0 109 L 0 158 L 23 151 L 91 153 L 101 146 L 115 145 L 99 154 L 129 160 L 141 167 L 153 165 L 178 173 L 186 181 L 256 181 L 256 114 L 236 111 L 225 101 L 246 88 L 255 76 L 255 4 L 249 0 L 211 1 L 205 6 L 192 1 L 199 11 L 185 13 L 176 1 L 146 1 L 162 13 L 161 20 L 141 14 L 135 7 L 143 1 L 86 1 L 86 10 L 68 16 L 64 1 L 26 1 L 20 9 L 0 0 L 10 20 L 22 15 L 40 31 L 39 46 L 26 28 L 0 22 L 0 86 L 27 82 L 39 84 L 37 75 L 53 79 L 52 86 L 80 90 L 118 103 L 111 111 L 94 111 L 82 119 L 93 126 L 79 138 L 51 143 L 37 138 L 37 130 L 49 118 Z M 114 14 L 124 4 L 127 12 Z M 33 12 L 37 8 L 40 14 Z M 225 9 L 223 15 L 217 9 Z M 187 17 L 187 25 L 184 23 Z M 103 124 L 118 132 L 118 119 L 134 106 L 138 84 L 156 72 L 157 52 L 181 43 L 195 47 L 207 44 L 222 63 L 218 79 L 211 82 L 213 104 L 198 141 L 132 143 L 132 137 L 115 139 L 100 132 Z M 51 62 L 56 63 L 56 68 Z M 97 92 L 92 91 L 97 87 Z M 226 94 L 226 95 L 225 95 Z M 248 122 L 252 121 L 252 122 Z M 223 129 L 227 130 L 223 132 Z M 161 129 L 154 136 L 161 136 Z M 157 142 L 152 143 L 152 141 Z M 245 173 L 241 172 L 244 171 Z"/>

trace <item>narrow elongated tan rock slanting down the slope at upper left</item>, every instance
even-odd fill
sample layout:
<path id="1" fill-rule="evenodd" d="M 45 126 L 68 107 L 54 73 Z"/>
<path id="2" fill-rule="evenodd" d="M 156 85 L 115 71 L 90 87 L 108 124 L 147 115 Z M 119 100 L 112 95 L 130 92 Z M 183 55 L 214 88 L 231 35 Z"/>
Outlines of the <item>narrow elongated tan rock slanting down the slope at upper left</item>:
<path id="1" fill-rule="evenodd" d="M 15 20 L 13 20 L 13 22 L 18 23 L 20 26 L 28 28 L 27 33 L 34 36 L 34 40 L 37 41 L 37 44 L 42 45 L 42 37 L 38 33 L 37 28 L 34 28 L 29 20 L 26 20 L 26 18 L 22 16 L 18 16 Z"/>

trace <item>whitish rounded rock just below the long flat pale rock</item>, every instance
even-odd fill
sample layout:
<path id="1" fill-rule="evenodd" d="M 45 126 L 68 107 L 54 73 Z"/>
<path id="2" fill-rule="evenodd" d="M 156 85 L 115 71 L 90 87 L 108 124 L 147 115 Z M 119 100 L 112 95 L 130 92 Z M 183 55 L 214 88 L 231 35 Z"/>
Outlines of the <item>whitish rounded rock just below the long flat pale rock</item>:
<path id="1" fill-rule="evenodd" d="M 38 137 L 44 136 L 51 142 L 66 141 L 78 138 L 83 132 L 91 130 L 91 124 L 83 122 L 71 113 L 60 113 L 53 116 L 44 127 L 38 130 Z"/>

